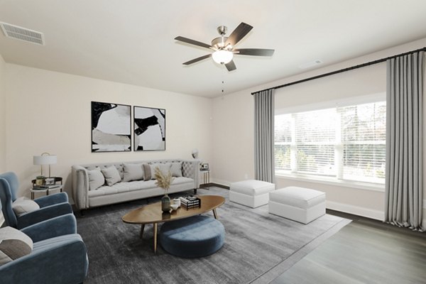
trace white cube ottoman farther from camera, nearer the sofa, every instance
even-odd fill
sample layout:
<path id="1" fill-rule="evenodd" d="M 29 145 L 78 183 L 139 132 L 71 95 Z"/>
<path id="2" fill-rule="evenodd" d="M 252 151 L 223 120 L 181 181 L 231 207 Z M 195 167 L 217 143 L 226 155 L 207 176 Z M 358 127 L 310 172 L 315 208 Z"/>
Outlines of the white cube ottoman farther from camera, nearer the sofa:
<path id="1" fill-rule="evenodd" d="M 243 180 L 229 186 L 229 200 L 256 208 L 268 204 L 269 192 L 275 190 L 271 182 L 261 180 Z"/>

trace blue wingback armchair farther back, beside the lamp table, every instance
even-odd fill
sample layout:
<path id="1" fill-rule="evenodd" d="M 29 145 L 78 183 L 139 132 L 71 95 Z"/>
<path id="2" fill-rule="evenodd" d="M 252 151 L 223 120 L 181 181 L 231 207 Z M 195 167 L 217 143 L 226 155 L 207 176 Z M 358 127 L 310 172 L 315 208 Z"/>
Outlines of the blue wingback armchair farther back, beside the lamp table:
<path id="1" fill-rule="evenodd" d="M 36 198 L 34 201 L 40 209 L 17 216 L 13 212 L 12 204 L 16 200 L 18 191 L 18 177 L 15 173 L 3 173 L 0 175 L 0 201 L 2 212 L 7 226 L 22 229 L 47 219 L 72 213 L 68 195 L 60 192 L 55 195 Z"/>

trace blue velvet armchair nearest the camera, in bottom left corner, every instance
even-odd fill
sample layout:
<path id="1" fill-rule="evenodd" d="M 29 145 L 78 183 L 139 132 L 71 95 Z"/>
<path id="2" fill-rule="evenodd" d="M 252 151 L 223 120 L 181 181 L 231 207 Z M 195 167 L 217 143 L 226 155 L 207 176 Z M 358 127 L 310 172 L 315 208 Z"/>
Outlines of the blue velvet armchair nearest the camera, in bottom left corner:
<path id="1" fill-rule="evenodd" d="M 73 214 L 22 229 L 32 239 L 33 251 L 0 266 L 1 283 L 83 283 L 89 260 L 76 230 Z"/>

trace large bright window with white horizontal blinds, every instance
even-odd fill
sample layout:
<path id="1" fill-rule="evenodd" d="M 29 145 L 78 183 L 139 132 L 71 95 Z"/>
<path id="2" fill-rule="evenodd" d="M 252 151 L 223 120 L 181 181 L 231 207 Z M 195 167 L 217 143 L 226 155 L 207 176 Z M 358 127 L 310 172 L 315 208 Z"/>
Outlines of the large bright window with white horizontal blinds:
<path id="1" fill-rule="evenodd" d="M 384 183 L 386 102 L 275 116 L 275 173 Z"/>

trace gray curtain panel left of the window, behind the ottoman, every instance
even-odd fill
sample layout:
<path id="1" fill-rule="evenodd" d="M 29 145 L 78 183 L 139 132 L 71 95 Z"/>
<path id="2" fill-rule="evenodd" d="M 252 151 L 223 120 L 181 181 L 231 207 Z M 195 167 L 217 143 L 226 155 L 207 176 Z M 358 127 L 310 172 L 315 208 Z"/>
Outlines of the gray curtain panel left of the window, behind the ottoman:
<path id="1" fill-rule="evenodd" d="M 272 183 L 275 183 L 274 94 L 275 89 L 253 94 L 255 178 Z"/>

